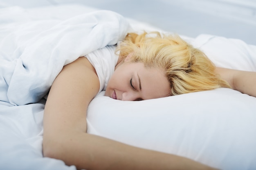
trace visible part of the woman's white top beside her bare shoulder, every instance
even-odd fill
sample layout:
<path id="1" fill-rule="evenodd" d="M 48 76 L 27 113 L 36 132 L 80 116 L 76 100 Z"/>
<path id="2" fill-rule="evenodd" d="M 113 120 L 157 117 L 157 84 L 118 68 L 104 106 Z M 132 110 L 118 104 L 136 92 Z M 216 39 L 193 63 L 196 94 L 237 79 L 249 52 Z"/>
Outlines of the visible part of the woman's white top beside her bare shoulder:
<path id="1" fill-rule="evenodd" d="M 99 92 L 105 90 L 110 77 L 115 71 L 118 55 L 115 54 L 117 46 L 106 46 L 85 55 L 97 72 L 100 82 Z"/>

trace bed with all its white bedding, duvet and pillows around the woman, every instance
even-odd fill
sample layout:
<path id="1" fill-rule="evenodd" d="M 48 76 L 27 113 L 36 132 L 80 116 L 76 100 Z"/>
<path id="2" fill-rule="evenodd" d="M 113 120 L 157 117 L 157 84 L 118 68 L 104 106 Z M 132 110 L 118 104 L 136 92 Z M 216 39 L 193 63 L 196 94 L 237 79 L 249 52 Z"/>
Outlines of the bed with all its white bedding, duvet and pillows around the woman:
<path id="1" fill-rule="evenodd" d="M 82 5 L 0 9 L 0 169 L 75 170 L 43 157 L 47 91 L 63 65 L 141 30 L 162 31 Z M 216 66 L 256 72 L 254 45 L 216 35 L 181 37 Z M 103 94 L 89 105 L 88 133 L 223 170 L 256 169 L 252 96 L 227 88 L 137 102 Z"/>

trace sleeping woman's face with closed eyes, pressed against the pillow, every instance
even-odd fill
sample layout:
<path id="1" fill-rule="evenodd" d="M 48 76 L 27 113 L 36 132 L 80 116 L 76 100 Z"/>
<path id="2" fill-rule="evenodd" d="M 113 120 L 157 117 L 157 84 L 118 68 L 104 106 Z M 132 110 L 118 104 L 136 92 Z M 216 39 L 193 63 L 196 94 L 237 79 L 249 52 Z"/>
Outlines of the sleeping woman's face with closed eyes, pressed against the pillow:
<path id="1" fill-rule="evenodd" d="M 110 78 L 105 96 L 133 101 L 166 97 L 170 93 L 171 88 L 163 71 L 145 68 L 144 63 L 125 59 Z"/>

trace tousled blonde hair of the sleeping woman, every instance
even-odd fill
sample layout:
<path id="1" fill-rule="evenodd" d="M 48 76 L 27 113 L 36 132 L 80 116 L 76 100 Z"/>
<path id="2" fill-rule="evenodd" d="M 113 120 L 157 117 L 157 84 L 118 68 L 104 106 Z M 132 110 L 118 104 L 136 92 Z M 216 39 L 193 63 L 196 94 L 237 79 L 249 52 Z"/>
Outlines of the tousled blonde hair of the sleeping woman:
<path id="1" fill-rule="evenodd" d="M 143 62 L 145 67 L 164 70 L 171 87 L 170 96 L 219 87 L 231 88 L 214 73 L 215 65 L 207 56 L 178 35 L 129 33 L 118 50 L 120 57 L 130 54 L 132 62 Z"/>

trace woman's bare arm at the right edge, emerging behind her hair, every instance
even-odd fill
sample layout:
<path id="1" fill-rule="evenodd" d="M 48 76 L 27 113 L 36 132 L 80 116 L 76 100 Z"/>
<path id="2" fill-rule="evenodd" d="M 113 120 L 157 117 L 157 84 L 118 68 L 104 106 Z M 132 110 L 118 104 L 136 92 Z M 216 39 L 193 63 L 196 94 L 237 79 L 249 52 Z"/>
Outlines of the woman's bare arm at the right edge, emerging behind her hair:
<path id="1" fill-rule="evenodd" d="M 239 92 L 256 97 L 256 72 L 216 68 L 216 73 Z"/>

